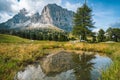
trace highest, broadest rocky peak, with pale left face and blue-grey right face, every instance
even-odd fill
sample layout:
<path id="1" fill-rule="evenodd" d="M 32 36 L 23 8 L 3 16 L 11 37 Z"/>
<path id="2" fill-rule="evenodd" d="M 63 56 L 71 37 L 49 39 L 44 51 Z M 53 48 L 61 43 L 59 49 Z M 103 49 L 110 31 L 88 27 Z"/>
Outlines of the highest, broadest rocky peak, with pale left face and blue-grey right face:
<path id="1" fill-rule="evenodd" d="M 63 9 L 56 4 L 48 4 L 44 7 L 41 14 L 41 23 L 53 24 L 58 28 L 71 31 L 73 26 L 74 12 Z"/>

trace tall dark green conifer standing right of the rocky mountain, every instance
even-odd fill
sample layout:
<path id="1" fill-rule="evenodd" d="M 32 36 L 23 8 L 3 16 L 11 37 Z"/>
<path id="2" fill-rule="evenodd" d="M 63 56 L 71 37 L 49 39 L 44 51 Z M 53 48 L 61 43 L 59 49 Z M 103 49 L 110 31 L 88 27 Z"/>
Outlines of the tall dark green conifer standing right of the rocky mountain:
<path id="1" fill-rule="evenodd" d="M 82 40 L 87 40 L 87 35 L 91 33 L 90 28 L 94 28 L 92 20 L 92 9 L 85 3 L 78 8 L 74 16 L 73 35 L 81 36 Z"/>

